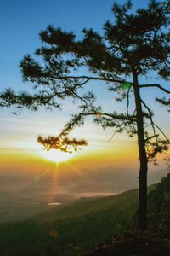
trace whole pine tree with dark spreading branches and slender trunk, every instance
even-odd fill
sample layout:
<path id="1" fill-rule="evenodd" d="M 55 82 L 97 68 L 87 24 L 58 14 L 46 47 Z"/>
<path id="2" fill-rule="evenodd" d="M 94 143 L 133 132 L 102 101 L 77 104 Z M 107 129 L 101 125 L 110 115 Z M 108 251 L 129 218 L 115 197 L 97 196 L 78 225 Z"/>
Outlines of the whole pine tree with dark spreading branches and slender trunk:
<path id="1" fill-rule="evenodd" d="M 147 228 L 147 171 L 148 161 L 154 160 L 157 153 L 167 150 L 169 140 L 156 125 L 150 107 L 144 102 L 140 91 L 147 88 L 170 90 L 162 84 L 139 84 L 139 78 L 158 76 L 169 78 L 169 2 L 150 1 L 147 9 L 131 12 L 132 3 L 122 6 L 115 3 L 112 10 L 113 23 L 104 24 L 104 34 L 93 29 L 83 29 L 83 38 L 76 39 L 73 32 L 48 26 L 40 33 L 43 46 L 36 50 L 41 61 L 26 55 L 20 62 L 25 81 L 34 84 L 37 94 L 15 95 L 13 90 L 1 94 L 1 106 L 16 104 L 18 108 L 39 106 L 60 108 L 57 99 L 71 97 L 80 101 L 79 111 L 65 125 L 57 137 L 38 137 L 45 148 L 60 149 L 65 152 L 77 150 L 86 145 L 85 140 L 70 139 L 69 133 L 82 125 L 87 116 L 103 128 L 113 127 L 116 132 L 127 131 L 130 137 L 137 136 L 139 147 L 139 229 Z M 84 67 L 88 68 L 84 72 Z M 75 74 L 78 73 L 77 75 Z M 93 80 L 103 81 L 111 92 L 118 94 L 117 101 L 127 101 L 125 113 L 105 112 L 95 105 L 94 92 L 82 90 Z M 157 99 L 166 104 L 168 99 Z M 163 102 L 164 101 L 164 102 Z M 130 111 L 130 104 L 135 106 Z"/>

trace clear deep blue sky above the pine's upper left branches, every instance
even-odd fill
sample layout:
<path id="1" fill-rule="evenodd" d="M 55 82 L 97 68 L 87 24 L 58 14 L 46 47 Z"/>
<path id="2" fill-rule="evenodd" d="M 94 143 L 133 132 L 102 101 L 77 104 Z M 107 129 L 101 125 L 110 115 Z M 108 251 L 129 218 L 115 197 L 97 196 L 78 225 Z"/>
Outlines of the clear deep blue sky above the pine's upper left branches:
<path id="1" fill-rule="evenodd" d="M 123 1 L 119 1 L 122 3 Z M 134 8 L 147 1 L 133 1 Z M 112 19 L 112 0 L 1 0 L 0 86 L 22 84 L 18 68 L 23 55 L 40 46 L 38 33 L 48 24 L 81 35 L 83 27 L 100 31 Z"/>

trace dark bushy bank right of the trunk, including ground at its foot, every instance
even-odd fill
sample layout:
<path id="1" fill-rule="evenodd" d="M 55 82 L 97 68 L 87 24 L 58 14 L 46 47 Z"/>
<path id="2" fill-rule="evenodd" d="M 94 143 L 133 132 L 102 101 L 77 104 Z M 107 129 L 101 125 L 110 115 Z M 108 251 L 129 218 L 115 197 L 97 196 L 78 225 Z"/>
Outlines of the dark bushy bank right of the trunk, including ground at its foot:
<path id="1" fill-rule="evenodd" d="M 170 173 L 151 189 L 148 196 L 149 230 L 127 231 L 110 238 L 88 256 L 170 255 Z"/>

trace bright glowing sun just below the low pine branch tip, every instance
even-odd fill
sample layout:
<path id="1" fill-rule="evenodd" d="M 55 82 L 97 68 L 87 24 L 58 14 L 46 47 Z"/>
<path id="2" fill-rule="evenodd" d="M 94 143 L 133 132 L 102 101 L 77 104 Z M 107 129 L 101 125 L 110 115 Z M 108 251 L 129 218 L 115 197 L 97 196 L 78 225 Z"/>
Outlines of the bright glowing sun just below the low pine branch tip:
<path id="1" fill-rule="evenodd" d="M 73 154 L 62 152 L 60 150 L 50 149 L 48 151 L 44 150 L 42 152 L 42 156 L 48 160 L 59 163 L 69 160 L 73 156 Z"/>

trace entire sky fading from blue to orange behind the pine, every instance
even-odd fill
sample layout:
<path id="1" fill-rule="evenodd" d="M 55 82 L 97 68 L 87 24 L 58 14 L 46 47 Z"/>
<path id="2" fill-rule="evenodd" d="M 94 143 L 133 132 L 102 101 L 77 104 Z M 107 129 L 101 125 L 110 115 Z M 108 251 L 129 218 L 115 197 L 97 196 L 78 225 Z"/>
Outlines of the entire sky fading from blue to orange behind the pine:
<path id="1" fill-rule="evenodd" d="M 81 37 L 84 27 L 93 27 L 94 30 L 101 32 L 103 23 L 113 18 L 112 3 L 112 0 L 1 0 L 0 90 L 8 87 L 15 90 L 29 90 L 31 85 L 22 82 L 20 60 L 24 55 L 32 54 L 40 46 L 38 33 L 48 24 L 74 31 L 77 37 Z M 148 1 L 134 0 L 133 6 L 136 9 L 146 6 L 147 3 Z M 106 108 L 122 109 L 121 105 L 115 106 L 115 102 L 112 101 L 113 96 L 104 92 L 102 84 L 94 83 L 94 88 L 97 85 L 98 100 L 102 101 Z M 158 123 L 168 132 L 167 112 L 157 106 L 153 100 L 153 94 L 157 93 L 157 90 L 147 90 L 144 98 L 155 109 Z M 44 168 L 52 168 L 48 162 L 44 164 L 46 158 L 48 161 L 48 155 L 44 157 L 36 137 L 38 134 L 46 136 L 59 133 L 71 115 L 68 102 L 63 108 L 63 112 L 57 110 L 47 112 L 42 109 L 38 113 L 31 113 L 26 110 L 19 116 L 12 114 L 12 109 L 0 109 L 0 172 L 42 172 Z M 73 107 L 74 111 L 75 107 Z M 74 131 L 73 135 L 88 139 L 89 146 L 73 156 L 68 161 L 70 165 L 78 171 L 84 168 L 97 170 L 112 167 L 114 170 L 132 168 L 136 172 L 138 170 L 136 139 L 122 134 L 116 135 L 108 143 L 112 133 L 111 130 L 103 131 L 88 120 L 87 125 Z M 65 170 L 69 168 L 65 166 Z M 109 177 L 108 173 L 107 177 Z"/>

